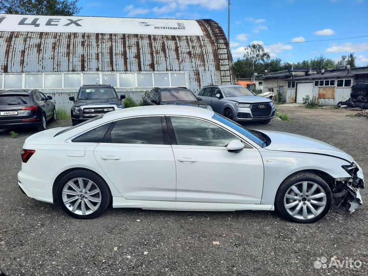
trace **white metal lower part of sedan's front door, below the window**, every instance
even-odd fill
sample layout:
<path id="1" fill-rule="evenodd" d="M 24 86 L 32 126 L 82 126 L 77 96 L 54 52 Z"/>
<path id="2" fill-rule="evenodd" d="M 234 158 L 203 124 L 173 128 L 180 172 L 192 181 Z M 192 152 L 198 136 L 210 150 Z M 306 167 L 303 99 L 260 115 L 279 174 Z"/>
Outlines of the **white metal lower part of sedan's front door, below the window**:
<path id="1" fill-rule="evenodd" d="M 263 162 L 257 149 L 231 153 L 220 147 L 172 148 L 177 201 L 261 203 Z M 186 158 L 188 162 L 179 161 Z"/>

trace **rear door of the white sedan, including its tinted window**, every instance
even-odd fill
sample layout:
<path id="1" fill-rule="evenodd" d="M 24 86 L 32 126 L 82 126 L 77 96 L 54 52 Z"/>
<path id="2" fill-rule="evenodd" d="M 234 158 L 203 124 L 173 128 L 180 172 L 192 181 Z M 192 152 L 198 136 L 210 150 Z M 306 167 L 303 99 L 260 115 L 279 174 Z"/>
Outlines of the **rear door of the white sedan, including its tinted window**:
<path id="1" fill-rule="evenodd" d="M 175 200 L 175 160 L 164 116 L 113 123 L 94 155 L 124 198 Z"/>

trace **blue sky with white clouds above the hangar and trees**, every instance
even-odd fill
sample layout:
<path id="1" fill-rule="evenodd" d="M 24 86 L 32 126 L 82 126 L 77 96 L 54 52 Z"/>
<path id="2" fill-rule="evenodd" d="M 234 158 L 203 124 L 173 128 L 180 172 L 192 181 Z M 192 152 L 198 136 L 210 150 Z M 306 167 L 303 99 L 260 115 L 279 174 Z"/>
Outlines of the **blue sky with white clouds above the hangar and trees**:
<path id="1" fill-rule="evenodd" d="M 80 0 L 81 16 L 211 18 L 227 33 L 227 0 Z M 297 62 L 319 55 L 339 60 L 355 53 L 368 65 L 368 0 L 231 0 L 230 41 L 233 57 L 253 41 L 271 57 Z M 362 38 L 340 38 L 363 36 Z M 280 42 L 324 40 L 294 44 Z"/>

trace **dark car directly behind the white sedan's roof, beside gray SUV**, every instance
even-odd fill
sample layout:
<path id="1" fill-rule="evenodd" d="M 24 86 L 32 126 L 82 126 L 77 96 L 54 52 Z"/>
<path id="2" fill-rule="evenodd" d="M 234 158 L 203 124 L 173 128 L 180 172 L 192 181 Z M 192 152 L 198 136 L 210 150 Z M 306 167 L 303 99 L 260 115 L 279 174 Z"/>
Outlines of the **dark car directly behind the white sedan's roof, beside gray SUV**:
<path id="1" fill-rule="evenodd" d="M 198 106 L 212 110 L 211 106 L 202 102 L 193 92 L 183 87 L 169 87 L 151 89 L 147 97 L 143 99 L 143 105 L 178 104 Z"/>

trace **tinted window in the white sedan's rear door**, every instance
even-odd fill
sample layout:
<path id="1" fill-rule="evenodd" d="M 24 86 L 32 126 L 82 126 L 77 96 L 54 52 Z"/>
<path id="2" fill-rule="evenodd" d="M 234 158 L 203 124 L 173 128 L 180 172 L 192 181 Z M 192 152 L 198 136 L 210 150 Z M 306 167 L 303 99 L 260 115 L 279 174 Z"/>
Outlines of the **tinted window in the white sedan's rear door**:
<path id="1" fill-rule="evenodd" d="M 118 121 L 111 130 L 111 143 L 164 145 L 160 117 Z"/>

